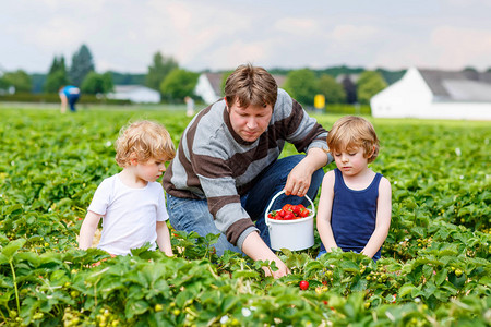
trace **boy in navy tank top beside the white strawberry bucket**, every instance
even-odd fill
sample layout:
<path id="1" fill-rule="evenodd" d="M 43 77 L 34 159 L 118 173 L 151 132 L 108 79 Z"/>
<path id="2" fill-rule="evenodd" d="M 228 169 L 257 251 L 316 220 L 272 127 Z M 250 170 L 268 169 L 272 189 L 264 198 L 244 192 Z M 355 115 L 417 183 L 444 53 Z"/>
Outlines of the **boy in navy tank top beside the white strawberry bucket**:
<path id="1" fill-rule="evenodd" d="M 343 117 L 330 131 L 327 145 L 337 168 L 322 181 L 318 258 L 340 247 L 376 261 L 391 226 L 392 191 L 388 180 L 368 167 L 379 155 L 375 130 L 361 117 Z"/>

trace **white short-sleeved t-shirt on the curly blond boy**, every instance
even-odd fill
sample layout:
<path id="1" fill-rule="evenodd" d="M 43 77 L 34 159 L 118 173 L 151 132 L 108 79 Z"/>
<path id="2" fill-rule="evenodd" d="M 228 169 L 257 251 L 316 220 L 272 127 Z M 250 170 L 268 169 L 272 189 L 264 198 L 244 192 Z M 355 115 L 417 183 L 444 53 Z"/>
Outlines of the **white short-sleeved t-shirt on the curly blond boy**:
<path id="1" fill-rule="evenodd" d="M 122 183 L 119 174 L 100 183 L 88 210 L 105 215 L 97 247 L 116 255 L 130 254 L 131 249 L 142 247 L 146 242 L 155 250 L 157 221 L 169 219 L 160 183 L 148 182 L 143 189 L 132 189 Z"/>

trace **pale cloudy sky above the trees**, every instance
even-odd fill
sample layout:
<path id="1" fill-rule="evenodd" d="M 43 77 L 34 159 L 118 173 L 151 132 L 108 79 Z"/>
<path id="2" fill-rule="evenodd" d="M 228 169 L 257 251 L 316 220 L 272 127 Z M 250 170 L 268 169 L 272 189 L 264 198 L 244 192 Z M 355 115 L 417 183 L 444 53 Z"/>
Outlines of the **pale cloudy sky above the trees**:
<path id="1" fill-rule="evenodd" d="M 97 72 L 348 65 L 491 68 L 491 0 L 0 0 L 0 70 L 46 73 L 85 44 Z"/>

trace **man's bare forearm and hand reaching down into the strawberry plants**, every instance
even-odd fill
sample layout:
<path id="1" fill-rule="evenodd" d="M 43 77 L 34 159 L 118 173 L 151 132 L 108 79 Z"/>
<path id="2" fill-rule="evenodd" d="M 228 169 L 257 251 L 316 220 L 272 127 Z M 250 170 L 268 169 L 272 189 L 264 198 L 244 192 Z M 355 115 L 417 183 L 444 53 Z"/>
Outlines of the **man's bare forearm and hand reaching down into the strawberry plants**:
<path id="1" fill-rule="evenodd" d="M 273 271 L 268 267 L 263 267 L 266 276 L 280 278 L 290 274 L 290 270 L 285 265 L 285 263 L 282 262 L 279 257 L 277 257 L 276 254 L 271 251 L 270 247 L 267 247 L 266 243 L 264 243 L 263 239 L 261 239 L 258 232 L 252 232 L 246 238 L 242 245 L 242 252 L 253 261 L 275 262 L 278 270 Z"/>

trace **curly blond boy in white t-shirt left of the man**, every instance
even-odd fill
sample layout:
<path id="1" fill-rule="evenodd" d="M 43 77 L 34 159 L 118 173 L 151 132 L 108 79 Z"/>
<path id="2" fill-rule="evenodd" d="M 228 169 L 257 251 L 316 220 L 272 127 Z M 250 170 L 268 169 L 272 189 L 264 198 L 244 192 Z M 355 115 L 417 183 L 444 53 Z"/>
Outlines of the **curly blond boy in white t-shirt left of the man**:
<path id="1" fill-rule="evenodd" d="M 116 153 L 123 169 L 97 187 L 80 230 L 79 247 L 92 246 L 103 218 L 98 249 L 127 255 L 149 243 L 149 250 L 158 245 L 172 256 L 164 189 L 156 182 L 166 170 L 165 162 L 176 156 L 169 133 L 156 122 L 134 122 L 121 131 Z"/>

